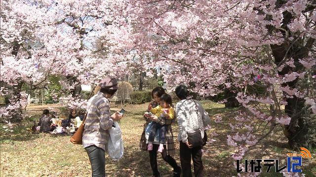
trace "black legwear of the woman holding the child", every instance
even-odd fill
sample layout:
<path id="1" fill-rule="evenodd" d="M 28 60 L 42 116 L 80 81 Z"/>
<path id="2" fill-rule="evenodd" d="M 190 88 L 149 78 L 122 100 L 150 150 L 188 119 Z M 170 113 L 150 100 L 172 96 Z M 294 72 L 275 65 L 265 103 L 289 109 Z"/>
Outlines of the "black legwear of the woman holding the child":
<path id="1" fill-rule="evenodd" d="M 160 174 L 158 172 L 158 166 L 157 166 L 157 150 L 159 148 L 159 145 L 153 144 L 153 150 L 148 151 L 149 152 L 149 160 L 150 160 L 150 166 L 153 170 L 153 175 L 155 177 L 159 177 Z M 162 159 L 166 161 L 171 167 L 173 168 L 173 171 L 176 172 L 179 167 L 177 165 L 177 162 L 172 158 L 170 155 L 167 155 L 166 146 L 163 145 L 163 150 L 161 153 Z"/>

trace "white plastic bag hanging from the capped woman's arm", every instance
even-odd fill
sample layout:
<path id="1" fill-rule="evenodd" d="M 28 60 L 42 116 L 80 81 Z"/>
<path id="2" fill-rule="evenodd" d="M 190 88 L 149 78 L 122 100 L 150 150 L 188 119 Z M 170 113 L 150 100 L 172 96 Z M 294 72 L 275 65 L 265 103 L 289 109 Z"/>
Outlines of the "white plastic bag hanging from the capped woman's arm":
<path id="1" fill-rule="evenodd" d="M 119 160 L 124 153 L 122 132 L 117 121 L 113 124 L 115 127 L 109 129 L 108 154 L 113 160 Z"/>

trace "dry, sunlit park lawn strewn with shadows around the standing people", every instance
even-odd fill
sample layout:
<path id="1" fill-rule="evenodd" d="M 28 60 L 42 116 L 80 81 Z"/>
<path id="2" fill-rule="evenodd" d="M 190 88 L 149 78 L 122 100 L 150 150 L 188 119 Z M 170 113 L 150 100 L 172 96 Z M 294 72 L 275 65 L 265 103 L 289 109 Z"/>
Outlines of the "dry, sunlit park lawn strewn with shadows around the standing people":
<path id="1" fill-rule="evenodd" d="M 127 112 L 120 121 L 124 155 L 119 161 L 113 161 L 109 156 L 106 156 L 106 172 L 109 177 L 150 177 L 152 175 L 148 152 L 138 151 L 139 140 L 145 123 L 143 113 L 147 104 L 126 105 L 124 107 Z M 226 109 L 224 105 L 211 101 L 202 101 L 202 104 L 212 119 L 212 129 L 208 131 L 208 138 L 216 140 L 213 144 L 204 147 L 206 152 L 202 158 L 205 176 L 237 176 L 234 166 L 236 161 L 230 158 L 236 149 L 227 146 L 227 135 L 232 135 L 229 123 L 236 122 L 234 116 L 238 110 Z M 33 108 L 29 107 L 28 110 L 34 111 Z M 120 110 L 120 106 L 116 106 L 112 110 Z M 222 123 L 215 123 L 216 115 L 222 116 Z M 25 120 L 23 122 L 25 126 L 16 126 L 13 133 L 3 131 L 2 126 L 0 126 L 0 176 L 90 177 L 91 168 L 85 150 L 79 145 L 71 144 L 70 136 L 49 133 L 33 134 L 26 130 L 33 123 L 30 120 L 34 119 L 38 118 L 32 117 Z M 214 131 L 218 136 L 211 137 L 210 133 Z M 177 123 L 173 124 L 173 133 L 176 146 L 174 158 L 180 165 Z M 311 150 L 314 156 L 315 150 Z M 279 130 L 252 148 L 244 158 L 255 159 L 262 156 L 270 159 L 278 158 L 281 164 L 285 164 L 286 154 L 291 152 L 294 151 L 287 148 L 286 138 Z M 172 168 L 162 160 L 160 155 L 158 155 L 158 164 L 161 177 L 172 177 Z M 315 158 L 303 159 L 302 168 L 306 177 L 316 176 L 315 167 Z M 282 175 L 270 172 L 269 174 L 263 173 L 261 176 Z"/>

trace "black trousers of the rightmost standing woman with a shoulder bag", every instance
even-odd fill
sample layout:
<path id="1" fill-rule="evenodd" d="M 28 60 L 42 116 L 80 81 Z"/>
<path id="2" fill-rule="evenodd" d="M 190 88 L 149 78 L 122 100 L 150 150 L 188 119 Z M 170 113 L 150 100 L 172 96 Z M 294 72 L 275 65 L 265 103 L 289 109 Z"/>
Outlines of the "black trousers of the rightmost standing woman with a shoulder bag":
<path id="1" fill-rule="evenodd" d="M 203 177 L 202 147 L 188 148 L 185 143 L 180 141 L 180 162 L 183 177 L 192 177 L 191 156 L 194 166 L 194 175 L 196 177 Z"/>

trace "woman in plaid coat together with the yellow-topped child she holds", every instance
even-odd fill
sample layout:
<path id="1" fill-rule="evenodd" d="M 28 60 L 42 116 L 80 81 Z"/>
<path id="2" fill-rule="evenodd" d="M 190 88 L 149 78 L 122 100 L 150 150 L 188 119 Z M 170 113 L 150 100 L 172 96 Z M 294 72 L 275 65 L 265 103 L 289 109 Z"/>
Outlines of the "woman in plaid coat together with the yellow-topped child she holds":
<path id="1" fill-rule="evenodd" d="M 161 96 L 162 99 L 160 102 Z M 160 177 L 157 165 L 157 152 L 161 152 L 163 160 L 173 167 L 173 176 L 180 177 L 181 168 L 177 165 L 177 162 L 174 160 L 174 158 L 171 157 L 171 155 L 174 154 L 174 142 L 171 128 L 172 121 L 168 121 L 174 118 L 174 111 L 171 107 L 171 97 L 170 95 L 165 94 L 163 88 L 157 87 L 152 90 L 152 98 L 154 100 L 150 102 L 147 110 L 147 112 L 151 112 L 152 114 L 144 114 L 146 123 L 144 125 L 144 131 L 141 137 L 140 149 L 148 150 L 150 165 L 153 170 L 154 177 Z M 155 131 L 151 131 L 151 138 L 149 138 L 149 140 L 146 140 L 145 138 L 145 130 L 150 122 L 154 124 L 154 129 L 160 128 L 161 132 L 162 128 L 162 136 L 160 136 L 158 142 L 155 142 L 153 138 L 155 137 Z M 149 145 L 147 148 L 148 143 Z"/>

